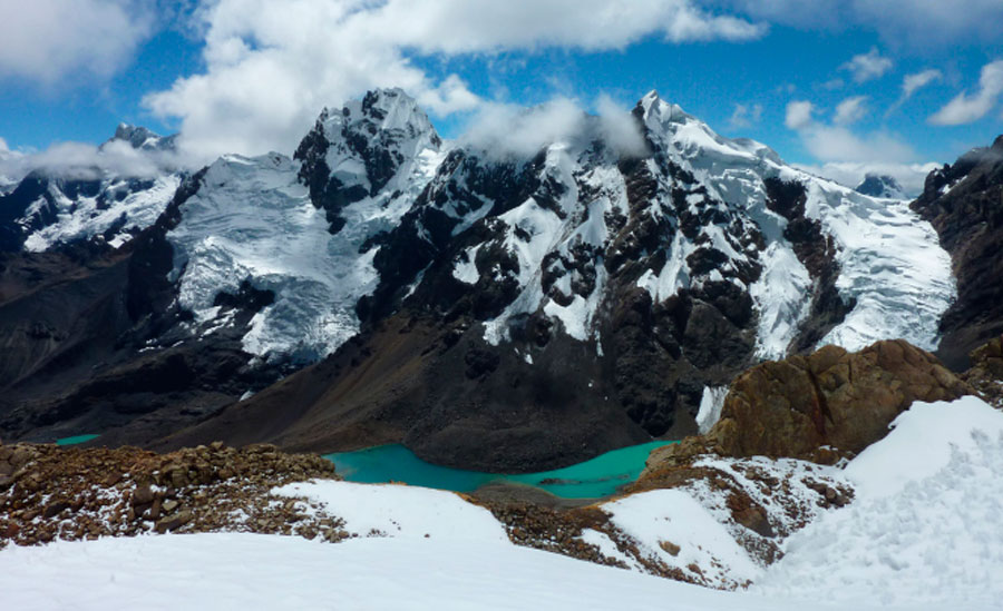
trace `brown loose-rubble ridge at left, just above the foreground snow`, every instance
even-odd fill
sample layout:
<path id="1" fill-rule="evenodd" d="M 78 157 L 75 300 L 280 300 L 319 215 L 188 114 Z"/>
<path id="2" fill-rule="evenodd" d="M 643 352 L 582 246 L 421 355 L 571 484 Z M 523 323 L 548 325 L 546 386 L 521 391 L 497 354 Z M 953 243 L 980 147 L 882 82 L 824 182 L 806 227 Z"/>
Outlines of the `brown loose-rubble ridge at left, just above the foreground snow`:
<path id="1" fill-rule="evenodd" d="M 334 479 L 320 456 L 222 443 L 134 447 L 0 445 L 0 548 L 147 532 L 255 532 L 340 541 L 343 522 L 275 486 Z"/>

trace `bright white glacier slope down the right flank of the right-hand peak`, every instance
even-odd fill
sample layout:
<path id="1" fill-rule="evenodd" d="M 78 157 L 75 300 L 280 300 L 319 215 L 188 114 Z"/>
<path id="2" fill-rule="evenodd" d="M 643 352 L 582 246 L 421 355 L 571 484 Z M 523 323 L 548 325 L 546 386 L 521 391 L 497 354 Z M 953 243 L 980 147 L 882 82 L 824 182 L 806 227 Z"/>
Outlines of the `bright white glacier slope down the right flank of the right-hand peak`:
<path id="1" fill-rule="evenodd" d="M 650 138 L 691 171 L 709 196 L 754 221 L 766 238 L 759 256 L 763 273 L 748 286 L 760 313 L 761 357 L 787 353 L 810 311 L 812 280 L 818 282 L 785 235 L 796 219 L 785 218 L 769 204 L 770 178 L 804 187 L 804 217 L 819 221 L 818 238 L 832 240 L 836 287 L 845 304 L 856 304 L 816 345 L 855 351 L 877 339 L 905 338 L 926 349 L 936 347 L 939 315 L 954 295 L 951 262 L 933 228 L 907 206 L 864 197 L 799 171 L 759 142 L 721 138 L 655 93 L 645 97 L 641 108 Z"/>

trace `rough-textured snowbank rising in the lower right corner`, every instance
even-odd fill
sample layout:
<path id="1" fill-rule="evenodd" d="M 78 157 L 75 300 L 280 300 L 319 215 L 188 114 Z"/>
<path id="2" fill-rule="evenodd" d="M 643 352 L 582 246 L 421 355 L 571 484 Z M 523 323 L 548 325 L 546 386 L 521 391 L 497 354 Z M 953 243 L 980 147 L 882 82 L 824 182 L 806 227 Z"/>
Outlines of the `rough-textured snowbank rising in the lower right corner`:
<path id="1" fill-rule="evenodd" d="M 916 403 L 846 467 L 856 500 L 787 542 L 772 595 L 1003 609 L 1003 413 Z"/>

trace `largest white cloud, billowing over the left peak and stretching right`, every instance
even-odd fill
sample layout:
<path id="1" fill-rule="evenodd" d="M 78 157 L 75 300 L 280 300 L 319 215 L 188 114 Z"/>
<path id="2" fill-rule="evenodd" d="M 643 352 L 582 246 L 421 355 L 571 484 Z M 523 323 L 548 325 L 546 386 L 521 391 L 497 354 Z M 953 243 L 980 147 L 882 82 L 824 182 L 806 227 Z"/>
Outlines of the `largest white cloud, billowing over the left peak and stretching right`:
<path id="1" fill-rule="evenodd" d="M 683 42 L 766 32 L 692 0 L 204 0 L 199 14 L 205 71 L 144 104 L 181 119 L 182 146 L 204 157 L 291 150 L 322 107 L 374 87 L 402 87 L 438 115 L 481 104 L 458 77 L 432 78 L 409 55 L 598 51 L 653 35 Z"/>

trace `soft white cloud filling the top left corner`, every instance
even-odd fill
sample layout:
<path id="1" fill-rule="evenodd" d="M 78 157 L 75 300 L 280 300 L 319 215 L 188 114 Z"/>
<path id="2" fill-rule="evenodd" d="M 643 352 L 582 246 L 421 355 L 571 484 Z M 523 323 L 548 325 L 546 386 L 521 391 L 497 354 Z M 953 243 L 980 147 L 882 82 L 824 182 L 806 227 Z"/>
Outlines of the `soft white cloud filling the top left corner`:
<path id="1" fill-rule="evenodd" d="M 149 0 L 0 2 L 0 77 L 53 86 L 107 78 L 125 67 L 153 24 Z"/>

